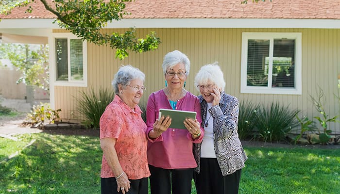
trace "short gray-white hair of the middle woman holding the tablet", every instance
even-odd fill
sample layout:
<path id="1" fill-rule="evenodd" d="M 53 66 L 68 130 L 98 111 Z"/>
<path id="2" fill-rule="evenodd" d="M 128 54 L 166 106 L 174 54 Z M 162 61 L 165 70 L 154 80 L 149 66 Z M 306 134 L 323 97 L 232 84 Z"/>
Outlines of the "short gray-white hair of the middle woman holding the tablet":
<path id="1" fill-rule="evenodd" d="M 168 52 L 168 54 L 164 56 L 163 64 L 162 64 L 164 75 L 166 74 L 166 71 L 168 68 L 171 68 L 179 63 L 184 65 L 184 68 L 186 69 L 186 72 L 187 72 L 186 76 L 189 75 L 190 60 L 189 58 L 187 58 L 187 55 L 183 54 L 181 51 L 178 51 L 178 50 Z"/>

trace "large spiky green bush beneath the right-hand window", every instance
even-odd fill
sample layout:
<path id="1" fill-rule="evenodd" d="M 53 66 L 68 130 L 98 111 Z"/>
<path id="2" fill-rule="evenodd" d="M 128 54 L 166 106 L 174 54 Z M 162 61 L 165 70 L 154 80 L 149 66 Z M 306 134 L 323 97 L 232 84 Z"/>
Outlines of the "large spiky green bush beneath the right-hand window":
<path id="1" fill-rule="evenodd" d="M 299 110 L 290 110 L 289 107 L 272 103 L 270 109 L 263 105 L 255 114 L 255 127 L 258 130 L 257 138 L 264 142 L 280 141 L 286 138 L 287 133 L 298 126 L 295 115 Z"/>

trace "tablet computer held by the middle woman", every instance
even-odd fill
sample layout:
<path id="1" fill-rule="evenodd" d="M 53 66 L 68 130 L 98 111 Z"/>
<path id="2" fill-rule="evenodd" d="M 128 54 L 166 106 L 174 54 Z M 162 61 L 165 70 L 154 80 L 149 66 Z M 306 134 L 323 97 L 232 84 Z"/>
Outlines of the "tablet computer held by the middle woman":
<path id="1" fill-rule="evenodd" d="M 171 118 L 171 125 L 169 128 L 175 128 L 175 129 L 187 129 L 184 126 L 184 120 L 186 118 L 191 118 L 192 120 L 196 119 L 196 112 L 192 111 L 177 111 L 177 110 L 171 110 L 171 109 L 159 109 L 159 115 L 158 118 L 162 116 L 170 116 Z"/>

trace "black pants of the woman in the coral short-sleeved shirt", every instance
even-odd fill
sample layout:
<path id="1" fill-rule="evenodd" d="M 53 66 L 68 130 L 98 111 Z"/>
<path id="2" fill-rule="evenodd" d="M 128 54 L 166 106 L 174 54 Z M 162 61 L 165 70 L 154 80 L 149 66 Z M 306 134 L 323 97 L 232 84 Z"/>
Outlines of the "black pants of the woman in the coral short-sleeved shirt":
<path id="1" fill-rule="evenodd" d="M 130 180 L 129 192 L 125 194 L 148 194 L 148 178 Z M 102 194 L 122 194 L 117 192 L 116 178 L 101 178 Z"/>

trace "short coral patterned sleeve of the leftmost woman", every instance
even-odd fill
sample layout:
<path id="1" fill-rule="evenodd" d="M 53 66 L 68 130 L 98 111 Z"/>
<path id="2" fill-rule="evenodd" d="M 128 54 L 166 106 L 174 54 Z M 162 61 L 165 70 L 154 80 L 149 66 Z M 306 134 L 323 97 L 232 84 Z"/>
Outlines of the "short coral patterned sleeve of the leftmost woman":
<path id="1" fill-rule="evenodd" d="M 116 138 L 119 139 L 121 129 L 123 127 L 123 120 L 119 108 L 108 106 L 101 116 L 99 121 L 100 139 Z"/>

